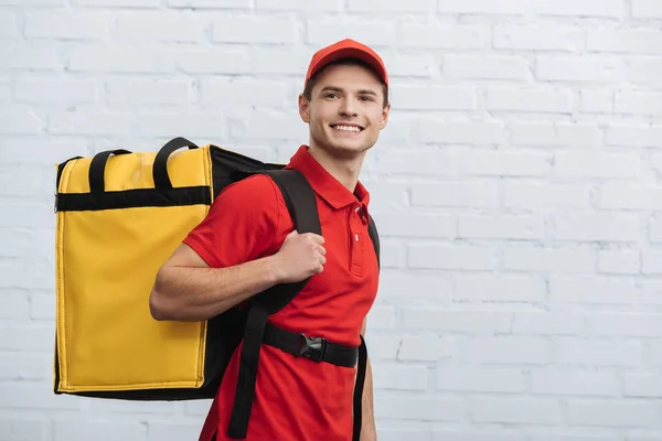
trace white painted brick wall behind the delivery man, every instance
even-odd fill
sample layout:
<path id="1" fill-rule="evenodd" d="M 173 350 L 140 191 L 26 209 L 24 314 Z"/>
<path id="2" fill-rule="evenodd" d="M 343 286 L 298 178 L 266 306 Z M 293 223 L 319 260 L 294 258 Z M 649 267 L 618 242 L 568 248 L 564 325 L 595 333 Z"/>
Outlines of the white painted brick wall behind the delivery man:
<path id="1" fill-rule="evenodd" d="M 54 163 L 307 142 L 313 51 L 373 44 L 382 441 L 662 440 L 662 1 L 0 1 L 0 441 L 196 439 L 209 401 L 52 394 Z"/>

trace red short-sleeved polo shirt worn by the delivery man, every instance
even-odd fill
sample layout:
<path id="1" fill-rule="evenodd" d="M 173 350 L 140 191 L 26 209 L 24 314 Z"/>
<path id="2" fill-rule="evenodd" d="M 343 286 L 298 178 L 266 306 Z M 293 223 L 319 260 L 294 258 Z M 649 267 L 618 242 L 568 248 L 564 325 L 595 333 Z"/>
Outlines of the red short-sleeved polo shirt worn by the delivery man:
<path id="1" fill-rule="evenodd" d="M 363 319 L 377 292 L 377 259 L 367 233 L 369 193 L 354 194 L 329 174 L 301 146 L 287 168 L 299 170 L 317 195 L 324 271 L 269 322 L 307 335 L 359 346 Z M 207 217 L 184 239 L 211 267 L 229 267 L 274 255 L 293 229 L 278 186 L 266 175 L 229 185 Z M 238 375 L 239 347 L 200 435 L 228 440 Z M 352 438 L 355 369 L 295 357 L 263 345 L 246 440 L 348 441 Z"/>

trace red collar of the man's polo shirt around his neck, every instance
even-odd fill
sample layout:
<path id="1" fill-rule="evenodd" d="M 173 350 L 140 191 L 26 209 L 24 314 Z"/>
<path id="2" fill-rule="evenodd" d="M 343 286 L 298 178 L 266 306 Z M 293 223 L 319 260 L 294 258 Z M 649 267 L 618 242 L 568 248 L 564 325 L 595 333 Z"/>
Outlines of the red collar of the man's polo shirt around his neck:
<path id="1" fill-rule="evenodd" d="M 308 151 L 308 146 L 299 147 L 299 150 L 290 159 L 287 169 L 300 171 L 317 194 L 329 203 L 333 208 L 342 208 L 351 204 L 359 204 L 367 215 L 370 193 L 359 181 L 354 193 L 350 192 L 331 173 L 329 173 Z"/>

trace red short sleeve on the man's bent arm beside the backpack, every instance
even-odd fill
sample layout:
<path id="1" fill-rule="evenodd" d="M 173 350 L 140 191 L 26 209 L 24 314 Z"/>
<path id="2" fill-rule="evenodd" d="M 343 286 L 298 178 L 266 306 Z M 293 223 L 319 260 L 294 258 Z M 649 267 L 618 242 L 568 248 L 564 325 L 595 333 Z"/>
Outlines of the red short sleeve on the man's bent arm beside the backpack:
<path id="1" fill-rule="evenodd" d="M 218 194 L 183 243 L 214 268 L 258 259 L 274 247 L 281 204 L 282 195 L 270 178 L 246 178 Z"/>

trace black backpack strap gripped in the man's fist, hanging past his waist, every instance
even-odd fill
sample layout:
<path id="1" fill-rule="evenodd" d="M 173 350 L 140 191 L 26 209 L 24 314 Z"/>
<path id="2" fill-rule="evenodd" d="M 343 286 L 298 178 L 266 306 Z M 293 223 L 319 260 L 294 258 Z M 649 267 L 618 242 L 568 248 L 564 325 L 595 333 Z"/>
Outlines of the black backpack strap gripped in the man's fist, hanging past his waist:
<path id="1" fill-rule="evenodd" d="M 300 172 L 296 170 L 269 170 L 249 174 L 267 174 L 276 182 L 282 193 L 295 228 L 299 234 L 314 233 L 321 235 L 314 191 Z M 257 294 L 252 302 L 246 320 L 244 344 L 239 359 L 239 376 L 227 432 L 231 438 L 246 438 L 255 398 L 259 352 L 267 320 L 270 314 L 285 308 L 306 287 L 309 280 L 310 278 L 297 283 L 275 286 Z"/>

